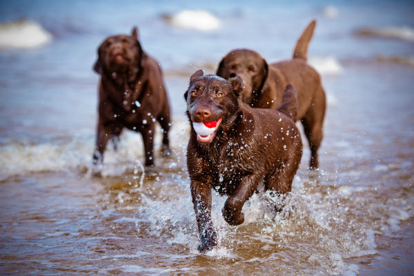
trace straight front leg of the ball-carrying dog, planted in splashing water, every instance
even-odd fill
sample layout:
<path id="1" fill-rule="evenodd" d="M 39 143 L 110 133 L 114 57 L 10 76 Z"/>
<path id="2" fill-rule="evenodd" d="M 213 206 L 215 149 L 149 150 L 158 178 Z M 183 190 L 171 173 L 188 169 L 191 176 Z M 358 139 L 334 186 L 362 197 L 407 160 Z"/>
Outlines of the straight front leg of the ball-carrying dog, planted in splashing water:
<path id="1" fill-rule="evenodd" d="M 201 181 L 191 181 L 190 188 L 199 230 L 198 250 L 205 252 L 217 246 L 217 234 L 211 221 L 211 188 Z"/>

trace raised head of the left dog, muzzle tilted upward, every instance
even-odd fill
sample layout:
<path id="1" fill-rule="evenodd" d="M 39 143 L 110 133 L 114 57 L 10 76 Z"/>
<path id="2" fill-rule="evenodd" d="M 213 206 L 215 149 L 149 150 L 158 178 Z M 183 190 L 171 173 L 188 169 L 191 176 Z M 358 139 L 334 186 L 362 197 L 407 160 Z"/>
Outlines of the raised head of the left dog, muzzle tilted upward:
<path id="1" fill-rule="evenodd" d="M 137 28 L 133 28 L 131 35 L 114 35 L 101 43 L 94 70 L 99 74 L 103 72 L 112 74 L 126 72 L 130 68 L 141 68 L 143 55 Z"/>

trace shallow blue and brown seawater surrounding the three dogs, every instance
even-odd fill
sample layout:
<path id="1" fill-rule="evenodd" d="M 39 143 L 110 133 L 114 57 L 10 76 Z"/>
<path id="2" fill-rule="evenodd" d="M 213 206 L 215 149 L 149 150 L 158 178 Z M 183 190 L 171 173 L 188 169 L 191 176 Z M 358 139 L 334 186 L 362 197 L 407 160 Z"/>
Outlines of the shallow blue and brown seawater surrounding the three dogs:
<path id="1" fill-rule="evenodd" d="M 268 9 L 266 1 L 221 8 L 203 3 L 221 23 L 210 32 L 169 26 L 164 15 L 184 9 L 167 2 L 162 9 L 131 2 L 108 21 L 103 18 L 112 12 L 109 2 L 50 3 L 24 9 L 8 3 L 8 13 L 0 13 L 4 20 L 24 15 L 53 36 L 40 48 L 0 50 L 1 275 L 413 273 L 411 3 L 380 1 L 374 10 L 373 3 L 281 2 Z M 97 13 L 90 14 L 92 9 Z M 135 19 L 133 10 L 142 17 Z M 303 20 L 284 24 L 297 14 Z M 309 56 L 328 96 L 320 169 L 308 170 L 304 139 L 291 193 L 285 199 L 253 195 L 240 226 L 224 221 L 226 198 L 213 193 L 219 246 L 200 254 L 186 171 L 189 126 L 182 95 L 188 78 L 198 68 L 215 72 L 219 59 L 239 45 L 259 50 L 268 61 L 287 58 L 315 17 Z M 270 19 L 275 28 L 265 28 Z M 144 172 L 141 137 L 124 132 L 119 148 L 108 145 L 103 166 L 95 168 L 95 49 L 103 37 L 132 24 L 139 25 L 144 49 L 164 68 L 174 115 L 173 155 L 161 158 L 157 129 L 157 166 Z M 390 38 L 381 32 L 387 26 L 408 31 Z M 373 30 L 363 37 L 354 32 L 367 27 Z M 282 204 L 283 211 L 275 213 Z"/>

